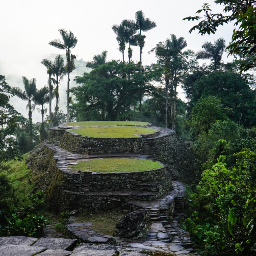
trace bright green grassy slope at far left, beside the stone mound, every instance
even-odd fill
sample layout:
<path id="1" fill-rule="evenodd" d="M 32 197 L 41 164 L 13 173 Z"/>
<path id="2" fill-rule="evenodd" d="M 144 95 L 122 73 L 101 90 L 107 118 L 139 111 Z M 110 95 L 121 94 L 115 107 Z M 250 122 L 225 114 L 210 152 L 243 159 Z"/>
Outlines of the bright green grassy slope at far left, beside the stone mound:
<path id="1" fill-rule="evenodd" d="M 30 182 L 31 172 L 26 164 L 27 157 L 28 153 L 23 156 L 22 161 L 11 160 L 7 162 L 10 169 L 5 173 L 11 180 L 14 195 L 23 204 L 29 202 L 29 195 L 34 188 L 34 185 Z"/>

